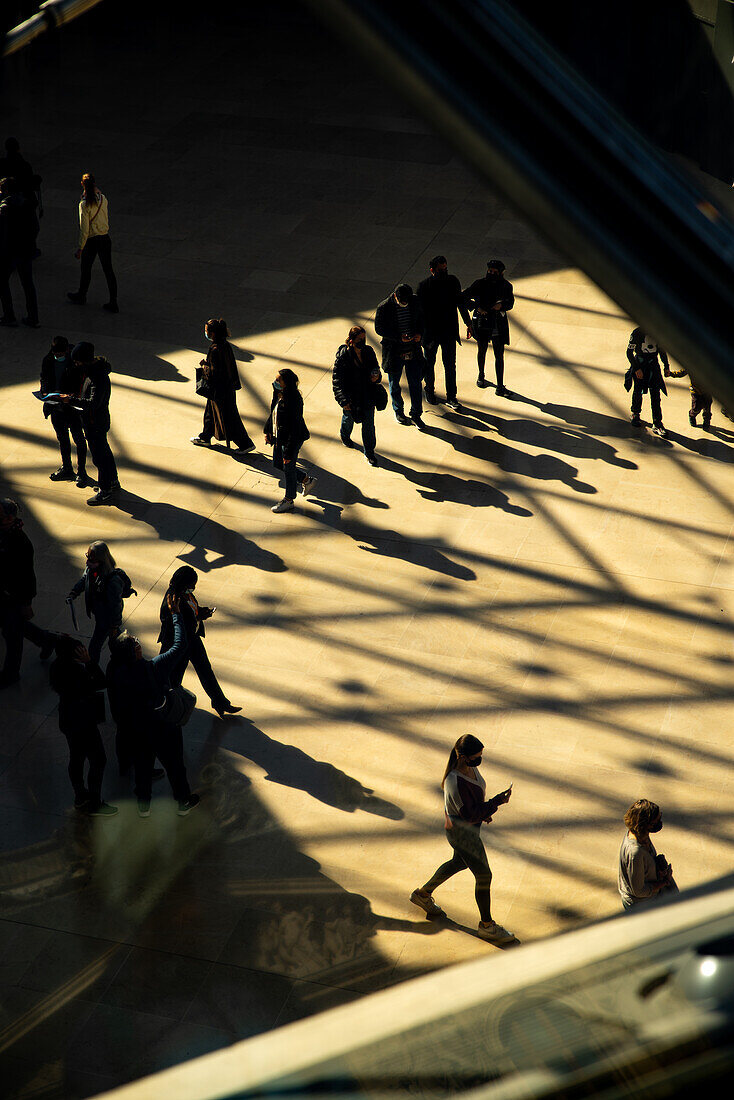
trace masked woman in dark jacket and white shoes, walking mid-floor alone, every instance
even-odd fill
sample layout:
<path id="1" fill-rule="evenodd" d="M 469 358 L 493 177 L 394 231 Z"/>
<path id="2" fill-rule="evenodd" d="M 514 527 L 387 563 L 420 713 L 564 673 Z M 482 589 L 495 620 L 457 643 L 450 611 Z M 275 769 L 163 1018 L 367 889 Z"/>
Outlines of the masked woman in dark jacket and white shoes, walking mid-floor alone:
<path id="1" fill-rule="evenodd" d="M 273 465 L 285 477 L 285 496 L 271 512 L 293 512 L 296 486 L 304 496 L 313 490 L 316 477 L 298 465 L 298 451 L 310 439 L 304 420 L 304 399 L 298 389 L 298 375 L 289 367 L 278 371 L 273 382 L 270 416 L 263 428 L 265 442 L 273 447 Z"/>

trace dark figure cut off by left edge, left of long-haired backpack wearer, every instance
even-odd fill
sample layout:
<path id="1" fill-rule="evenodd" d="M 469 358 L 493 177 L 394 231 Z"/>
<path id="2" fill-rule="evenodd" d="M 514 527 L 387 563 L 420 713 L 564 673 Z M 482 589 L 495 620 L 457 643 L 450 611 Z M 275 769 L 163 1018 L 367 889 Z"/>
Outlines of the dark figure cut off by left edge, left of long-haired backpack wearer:
<path id="1" fill-rule="evenodd" d="M 24 638 L 39 646 L 42 660 L 51 657 L 56 640 L 31 623 L 36 593 L 33 544 L 18 513 L 14 501 L 0 501 L 0 632 L 6 639 L 0 688 L 20 680 Z"/>

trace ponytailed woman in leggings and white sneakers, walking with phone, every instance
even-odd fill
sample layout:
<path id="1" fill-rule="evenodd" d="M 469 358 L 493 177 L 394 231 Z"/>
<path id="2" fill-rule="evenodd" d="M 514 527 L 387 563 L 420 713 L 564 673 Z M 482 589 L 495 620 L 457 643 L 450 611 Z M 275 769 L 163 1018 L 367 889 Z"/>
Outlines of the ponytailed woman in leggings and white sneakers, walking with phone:
<path id="1" fill-rule="evenodd" d="M 508 944 L 515 936 L 492 920 L 492 871 L 480 829 L 483 822 L 492 821 L 500 806 L 510 802 L 512 784 L 493 799 L 484 798 L 486 783 L 479 772 L 483 749 L 482 743 L 472 734 L 459 737 L 451 749 L 441 787 L 446 839 L 453 849 L 453 855 L 441 864 L 423 887 L 413 891 L 410 901 L 424 910 L 427 916 L 445 916 L 443 910 L 434 901 L 434 890 L 459 871 L 469 869 L 474 876 L 474 897 L 480 915 L 479 935 L 491 944 Z"/>

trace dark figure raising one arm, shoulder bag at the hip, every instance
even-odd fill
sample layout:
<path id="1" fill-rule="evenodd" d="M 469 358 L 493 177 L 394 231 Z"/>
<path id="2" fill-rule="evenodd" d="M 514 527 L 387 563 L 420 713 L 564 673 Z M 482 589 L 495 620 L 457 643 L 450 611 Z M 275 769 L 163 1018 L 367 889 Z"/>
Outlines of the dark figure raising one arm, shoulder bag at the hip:
<path id="1" fill-rule="evenodd" d="M 107 694 L 118 726 L 118 756 L 133 761 L 141 817 L 151 813 L 156 757 L 165 768 L 179 816 L 185 817 L 199 804 L 186 777 L 182 728 L 161 716 L 171 674 L 186 652 L 184 622 L 175 596 L 168 596 L 168 608 L 174 631 L 169 649 L 146 660 L 138 638 L 123 630 L 110 645 L 107 666 Z"/>

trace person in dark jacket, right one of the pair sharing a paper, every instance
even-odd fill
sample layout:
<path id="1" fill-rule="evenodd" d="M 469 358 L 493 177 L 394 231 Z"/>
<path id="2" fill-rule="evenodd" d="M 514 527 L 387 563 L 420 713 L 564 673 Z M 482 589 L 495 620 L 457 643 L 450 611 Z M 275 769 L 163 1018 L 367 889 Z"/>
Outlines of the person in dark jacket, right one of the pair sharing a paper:
<path id="1" fill-rule="evenodd" d="M 63 394 L 64 402 L 73 400 L 81 407 L 84 433 L 89 443 L 91 461 L 97 466 L 97 488 L 87 499 L 89 505 L 108 504 L 120 491 L 118 468 L 110 450 L 107 433 L 110 430 L 110 371 L 111 364 L 103 355 L 95 355 L 94 344 L 83 340 L 75 344 L 72 361 L 79 367 L 85 380 L 78 397 Z"/>

